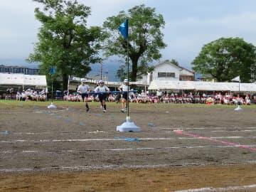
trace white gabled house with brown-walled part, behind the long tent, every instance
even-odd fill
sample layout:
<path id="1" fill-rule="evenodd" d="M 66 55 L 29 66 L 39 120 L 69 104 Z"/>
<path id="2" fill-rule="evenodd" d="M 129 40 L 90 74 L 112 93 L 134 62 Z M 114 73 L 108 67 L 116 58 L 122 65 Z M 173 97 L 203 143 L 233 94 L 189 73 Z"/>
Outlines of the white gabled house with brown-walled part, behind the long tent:
<path id="1" fill-rule="evenodd" d="M 152 80 L 195 80 L 195 73 L 164 60 L 154 65 L 154 71 L 145 75 L 141 81 L 149 85 Z"/>

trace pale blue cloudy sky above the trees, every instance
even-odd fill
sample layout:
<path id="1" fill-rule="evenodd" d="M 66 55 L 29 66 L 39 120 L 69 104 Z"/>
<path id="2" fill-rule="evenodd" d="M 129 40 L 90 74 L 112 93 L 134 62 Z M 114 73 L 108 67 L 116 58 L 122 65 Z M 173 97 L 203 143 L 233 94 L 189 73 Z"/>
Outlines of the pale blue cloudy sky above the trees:
<path id="1" fill-rule="evenodd" d="M 167 47 L 161 50 L 161 60 L 174 58 L 185 68 L 191 68 L 203 45 L 221 37 L 243 38 L 256 46 L 255 0 L 79 1 L 91 7 L 88 26 L 102 26 L 108 16 L 139 4 L 156 8 L 166 22 L 163 32 Z M 38 6 L 32 0 L 0 0 L 0 65 L 26 63 L 41 26 L 33 12 Z"/>

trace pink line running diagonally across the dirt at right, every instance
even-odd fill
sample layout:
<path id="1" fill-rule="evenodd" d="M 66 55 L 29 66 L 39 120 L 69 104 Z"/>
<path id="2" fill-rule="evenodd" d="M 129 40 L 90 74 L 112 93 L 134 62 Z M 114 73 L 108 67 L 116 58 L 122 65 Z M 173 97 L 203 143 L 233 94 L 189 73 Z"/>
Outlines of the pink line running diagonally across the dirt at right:
<path id="1" fill-rule="evenodd" d="M 204 140 L 208 140 L 208 141 L 211 141 L 211 142 L 220 143 L 220 144 L 224 144 L 224 145 L 238 146 L 238 147 L 240 147 L 242 149 L 249 149 L 250 151 L 256 152 L 256 148 L 250 147 L 250 146 L 247 146 L 247 145 L 235 144 L 235 143 L 232 143 L 232 142 L 220 141 L 220 140 L 213 139 L 213 138 L 210 138 L 210 137 L 202 137 L 202 136 L 200 136 L 198 134 L 190 134 L 190 133 L 183 132 L 183 130 L 174 130 L 174 132 L 176 134 L 185 135 L 185 136 L 188 136 L 188 137 L 194 137 L 194 138 L 198 138 L 198 139 L 204 139 Z"/>

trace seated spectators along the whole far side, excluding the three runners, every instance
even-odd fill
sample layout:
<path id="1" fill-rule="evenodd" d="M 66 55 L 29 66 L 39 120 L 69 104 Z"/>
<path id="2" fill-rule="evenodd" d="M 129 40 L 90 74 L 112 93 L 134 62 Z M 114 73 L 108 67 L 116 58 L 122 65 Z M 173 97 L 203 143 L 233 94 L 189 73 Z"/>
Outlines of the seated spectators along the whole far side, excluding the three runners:
<path id="1" fill-rule="evenodd" d="M 11 99 L 11 95 L 14 94 L 14 89 L 11 87 L 6 90 L 6 99 Z M 120 102 L 122 98 L 122 92 L 113 91 L 107 95 L 108 102 Z M 70 102 L 82 102 L 82 97 L 78 92 L 67 94 L 64 92 L 64 97 L 61 99 Z M 46 90 L 32 90 L 27 89 L 22 92 L 16 92 L 16 100 L 35 100 L 46 101 Z M 97 93 L 90 92 L 87 97 L 88 102 L 98 102 L 99 98 Z M 238 95 L 233 92 L 216 92 L 207 95 L 205 92 L 188 92 L 188 93 L 176 93 L 176 92 L 162 92 L 157 90 L 156 92 L 149 92 L 142 90 L 140 93 L 134 90 L 129 92 L 129 102 L 137 103 L 173 103 L 173 104 L 220 104 L 220 105 L 251 105 L 256 104 L 256 95 Z"/>

